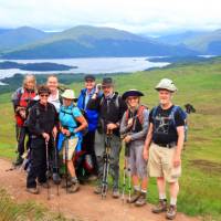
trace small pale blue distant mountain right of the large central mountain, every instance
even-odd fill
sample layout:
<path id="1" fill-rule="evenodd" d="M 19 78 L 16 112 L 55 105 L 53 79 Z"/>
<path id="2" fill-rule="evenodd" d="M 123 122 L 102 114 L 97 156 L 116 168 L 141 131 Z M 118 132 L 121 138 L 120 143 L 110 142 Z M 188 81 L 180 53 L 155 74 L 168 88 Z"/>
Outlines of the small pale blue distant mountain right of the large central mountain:
<path id="1" fill-rule="evenodd" d="M 202 31 L 187 31 L 182 33 L 161 35 L 157 38 L 157 40 L 166 44 L 178 45 L 186 44 L 187 41 L 190 41 L 191 39 L 194 39 L 206 33 L 207 32 Z"/>

